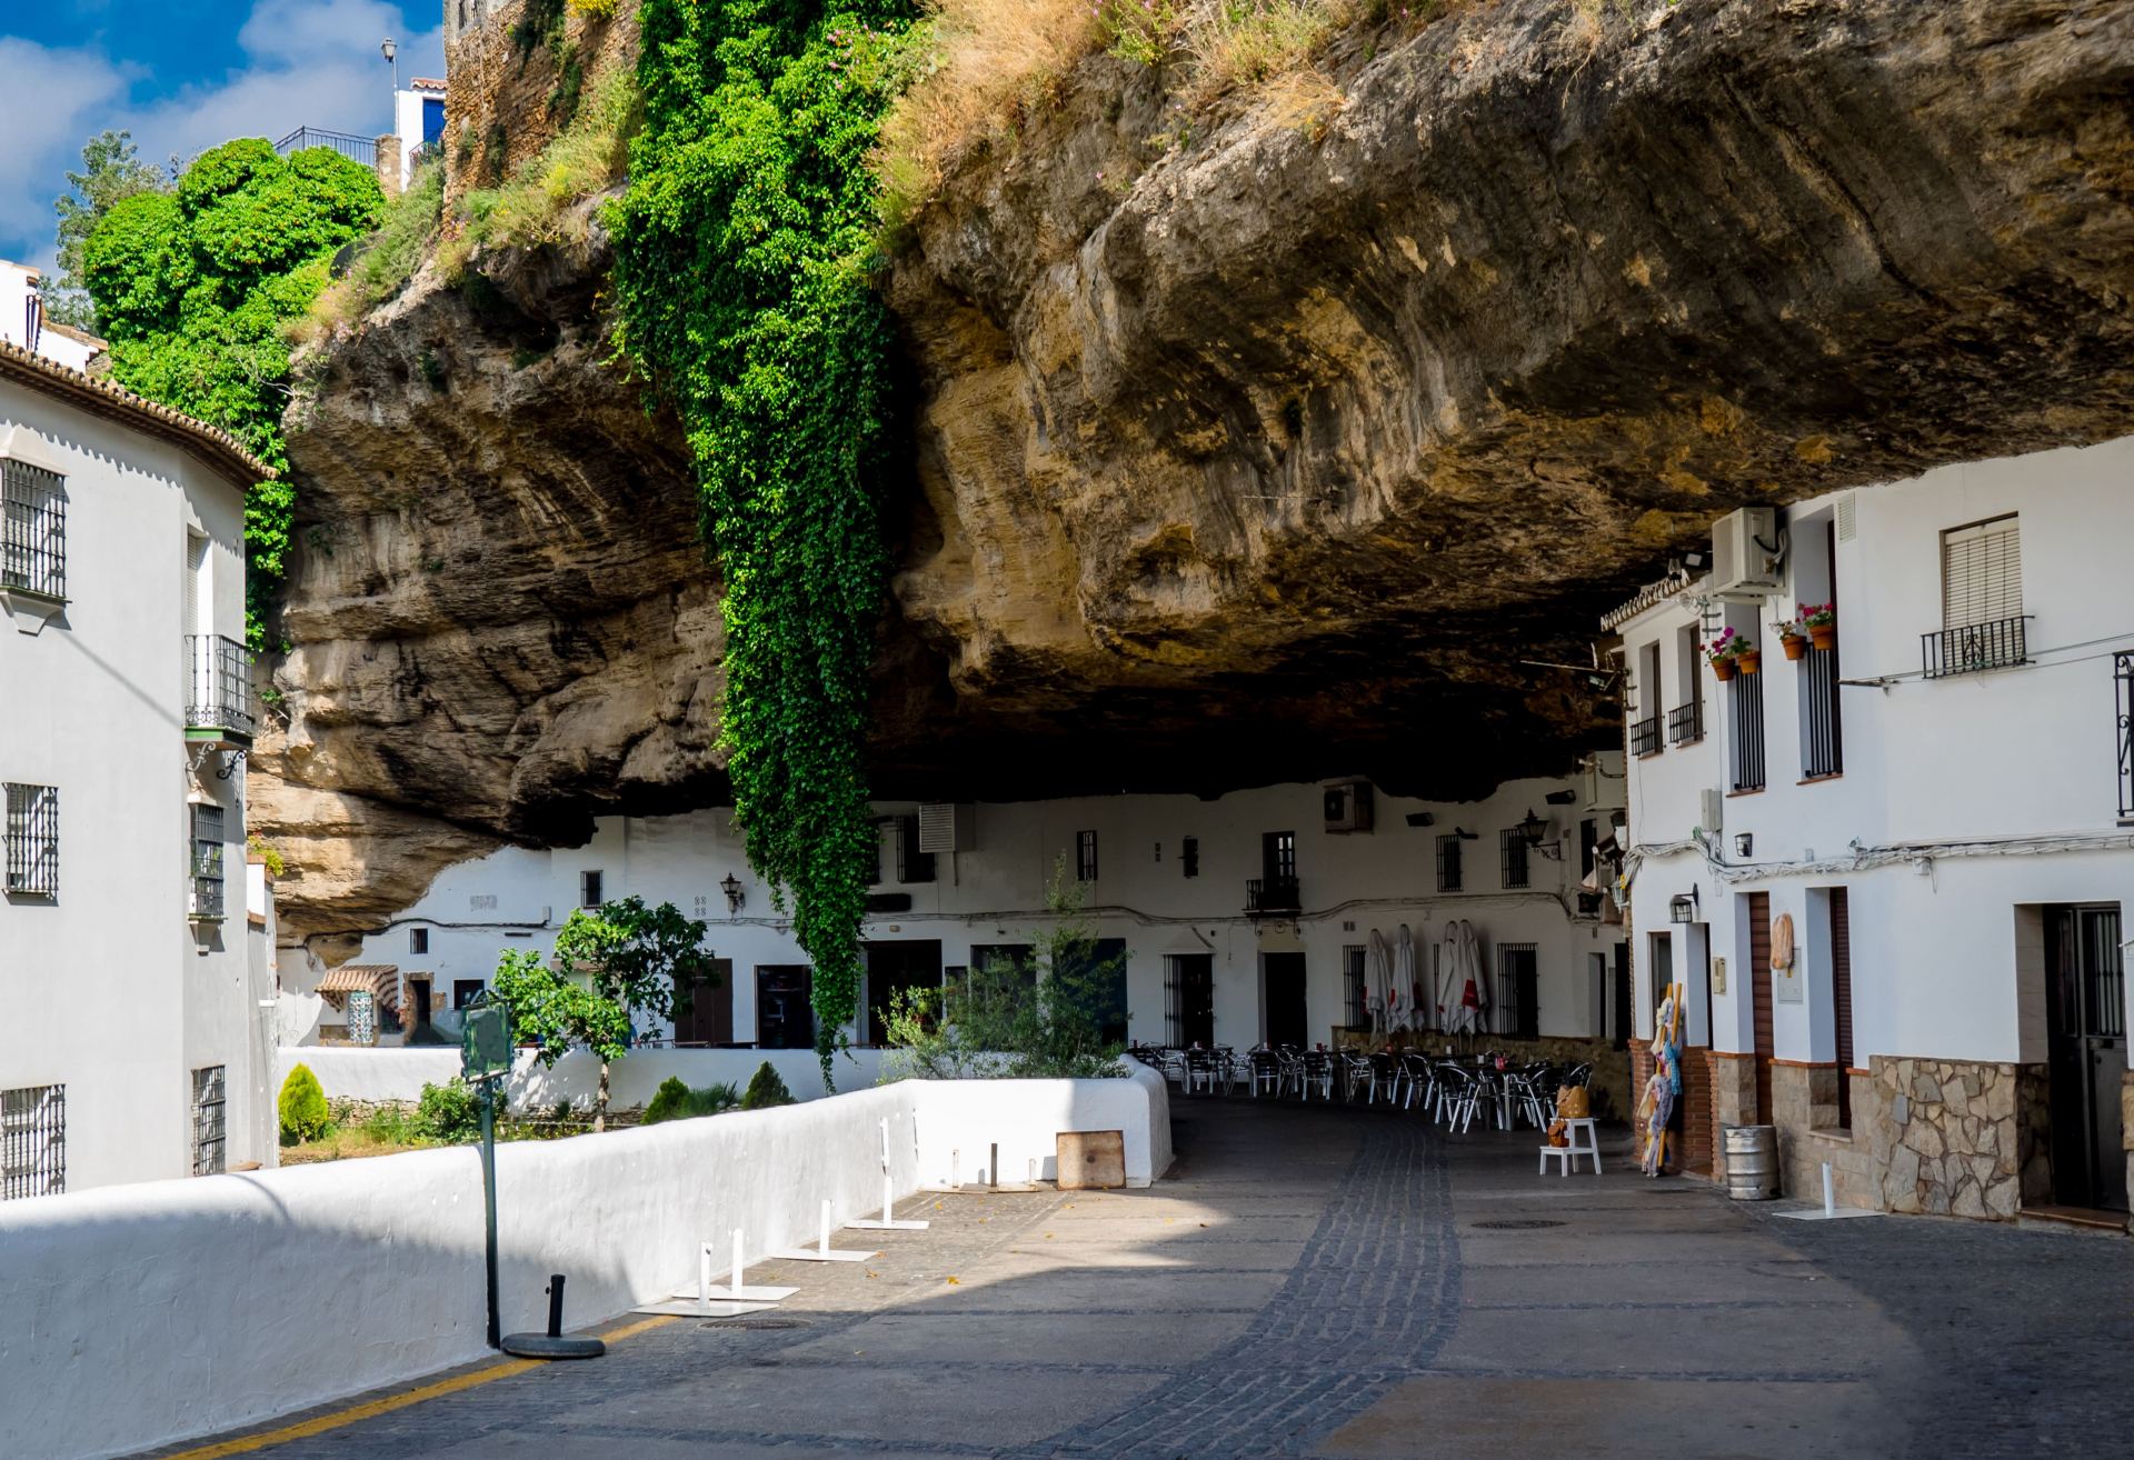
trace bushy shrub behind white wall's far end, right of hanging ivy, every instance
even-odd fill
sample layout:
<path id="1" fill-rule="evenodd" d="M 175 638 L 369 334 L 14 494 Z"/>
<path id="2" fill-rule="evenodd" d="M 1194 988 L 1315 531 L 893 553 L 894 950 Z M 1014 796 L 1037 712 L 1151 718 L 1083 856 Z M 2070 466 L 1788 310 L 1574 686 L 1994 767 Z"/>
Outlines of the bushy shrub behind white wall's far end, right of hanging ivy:
<path id="1" fill-rule="evenodd" d="M 1037 978 L 1005 961 L 971 969 L 945 988 L 890 995 L 883 1020 L 892 1076 L 928 1080 L 1093 1080 L 1125 1074 L 1120 1044 L 1103 1037 L 1122 958 L 1097 956 L 1097 926 L 1082 916 L 1086 888 L 1061 856 L 1046 888 L 1056 922 L 1024 937 L 1037 948 Z"/>

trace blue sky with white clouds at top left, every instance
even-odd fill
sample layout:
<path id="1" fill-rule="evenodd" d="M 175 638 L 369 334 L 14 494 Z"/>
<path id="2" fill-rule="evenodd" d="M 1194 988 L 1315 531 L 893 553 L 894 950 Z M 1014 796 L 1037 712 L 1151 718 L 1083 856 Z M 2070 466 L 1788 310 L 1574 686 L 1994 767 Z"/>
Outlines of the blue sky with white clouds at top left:
<path id="1" fill-rule="evenodd" d="M 98 47 L 49 49 L 0 36 L 0 256 L 49 267 L 51 199 L 79 166 L 81 143 L 126 128 L 145 160 L 190 158 L 233 137 L 277 139 L 299 126 L 376 137 L 393 122 L 393 68 L 378 51 L 399 41 L 399 79 L 444 75 L 444 28 L 414 30 L 380 0 L 258 0 L 237 41 L 245 66 L 211 85 L 128 100 L 152 70 Z"/>

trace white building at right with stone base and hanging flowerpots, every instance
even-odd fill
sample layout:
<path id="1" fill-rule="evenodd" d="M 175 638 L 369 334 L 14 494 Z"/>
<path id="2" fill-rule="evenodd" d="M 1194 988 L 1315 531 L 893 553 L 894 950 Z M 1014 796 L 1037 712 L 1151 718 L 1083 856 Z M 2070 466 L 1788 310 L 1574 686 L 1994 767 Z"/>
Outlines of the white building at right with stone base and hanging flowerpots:
<path id="1" fill-rule="evenodd" d="M 1709 574 L 1609 615 L 1637 1018 L 1686 984 L 1692 1153 L 1771 1123 L 1795 1193 L 1829 1161 L 1857 1206 L 2125 1212 L 2130 534 L 2134 440 L 1953 465 L 1722 519 Z M 1835 647 L 1788 660 L 1803 602 Z M 1726 628 L 1761 666 L 1718 683 Z"/>

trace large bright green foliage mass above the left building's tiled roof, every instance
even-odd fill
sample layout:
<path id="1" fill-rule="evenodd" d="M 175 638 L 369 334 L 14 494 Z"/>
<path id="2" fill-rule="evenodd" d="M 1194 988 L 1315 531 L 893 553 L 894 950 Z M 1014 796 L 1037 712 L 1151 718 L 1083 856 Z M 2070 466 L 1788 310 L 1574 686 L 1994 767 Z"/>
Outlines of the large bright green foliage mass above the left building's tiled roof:
<path id="1" fill-rule="evenodd" d="M 81 280 L 111 342 L 120 384 L 220 425 L 286 467 L 282 329 L 327 286 L 333 252 L 371 228 L 378 177 L 331 147 L 286 158 L 256 137 L 194 158 L 173 192 L 113 201 L 81 243 Z M 245 497 L 250 640 L 286 572 L 294 491 Z"/>

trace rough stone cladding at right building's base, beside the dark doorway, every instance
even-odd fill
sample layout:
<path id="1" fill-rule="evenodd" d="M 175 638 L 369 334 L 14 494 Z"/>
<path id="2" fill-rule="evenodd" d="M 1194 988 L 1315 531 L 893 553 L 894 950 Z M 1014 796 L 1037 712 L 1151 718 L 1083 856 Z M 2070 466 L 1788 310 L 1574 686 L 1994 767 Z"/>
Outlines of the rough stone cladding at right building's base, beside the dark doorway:
<path id="1" fill-rule="evenodd" d="M 1891 1212 L 2014 1221 L 2051 1202 L 2051 1084 L 2044 1065 L 1869 1059 L 1869 1159 Z"/>

